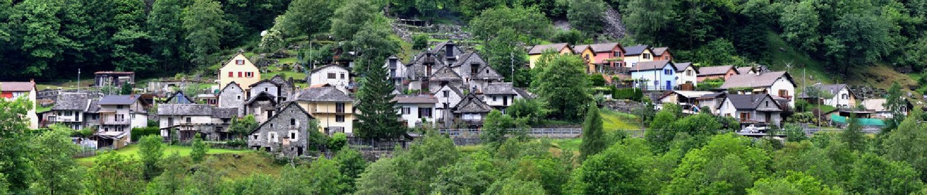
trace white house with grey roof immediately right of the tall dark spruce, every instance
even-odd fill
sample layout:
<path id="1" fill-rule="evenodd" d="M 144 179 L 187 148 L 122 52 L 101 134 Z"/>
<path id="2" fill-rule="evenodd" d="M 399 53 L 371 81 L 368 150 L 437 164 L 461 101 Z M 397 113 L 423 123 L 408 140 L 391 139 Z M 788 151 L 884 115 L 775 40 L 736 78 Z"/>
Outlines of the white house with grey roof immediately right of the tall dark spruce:
<path id="1" fill-rule="evenodd" d="M 435 104 L 438 98 L 431 94 L 396 95 L 396 111 L 406 127 L 415 128 L 435 123 Z"/>

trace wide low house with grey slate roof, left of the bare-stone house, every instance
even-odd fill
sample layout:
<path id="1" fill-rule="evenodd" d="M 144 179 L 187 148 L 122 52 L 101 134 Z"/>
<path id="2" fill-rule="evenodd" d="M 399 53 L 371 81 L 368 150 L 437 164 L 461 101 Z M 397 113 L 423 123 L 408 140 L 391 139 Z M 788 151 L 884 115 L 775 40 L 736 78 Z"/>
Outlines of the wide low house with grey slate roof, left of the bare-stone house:
<path id="1" fill-rule="evenodd" d="M 236 108 L 217 108 L 210 104 L 158 104 L 160 135 L 165 140 L 228 140 Z"/>

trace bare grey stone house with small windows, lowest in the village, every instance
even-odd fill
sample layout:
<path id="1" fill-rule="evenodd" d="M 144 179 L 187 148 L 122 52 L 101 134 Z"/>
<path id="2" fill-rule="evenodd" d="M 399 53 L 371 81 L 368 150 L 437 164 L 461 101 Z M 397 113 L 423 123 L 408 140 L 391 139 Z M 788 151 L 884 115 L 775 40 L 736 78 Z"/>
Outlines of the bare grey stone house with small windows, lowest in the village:
<path id="1" fill-rule="evenodd" d="M 309 146 L 309 127 L 314 120 L 309 112 L 295 102 L 286 104 L 280 114 L 272 116 L 248 133 L 248 147 L 286 156 L 301 156 Z"/>

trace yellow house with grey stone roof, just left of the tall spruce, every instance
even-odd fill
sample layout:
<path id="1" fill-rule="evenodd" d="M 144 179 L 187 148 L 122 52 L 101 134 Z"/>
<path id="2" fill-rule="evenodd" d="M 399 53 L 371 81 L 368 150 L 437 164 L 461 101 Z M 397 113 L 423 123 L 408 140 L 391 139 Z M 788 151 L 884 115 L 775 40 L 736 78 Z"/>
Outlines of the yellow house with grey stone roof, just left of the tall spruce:
<path id="1" fill-rule="evenodd" d="M 331 85 L 306 88 L 297 93 L 297 104 L 319 122 L 319 132 L 354 133 L 354 99 Z"/>

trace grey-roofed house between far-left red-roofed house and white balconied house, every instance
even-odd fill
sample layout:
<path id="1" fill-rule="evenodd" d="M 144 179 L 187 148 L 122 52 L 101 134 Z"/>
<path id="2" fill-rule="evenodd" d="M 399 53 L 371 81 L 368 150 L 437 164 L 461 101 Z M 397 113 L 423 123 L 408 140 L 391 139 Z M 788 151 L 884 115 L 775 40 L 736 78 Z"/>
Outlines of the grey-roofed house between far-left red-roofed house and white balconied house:
<path id="1" fill-rule="evenodd" d="M 90 107 L 90 93 L 85 92 L 62 92 L 55 98 L 55 105 L 50 112 L 45 114 L 46 121 L 42 124 L 47 127 L 52 124 L 60 124 L 73 129 L 83 129 L 85 111 Z"/>

